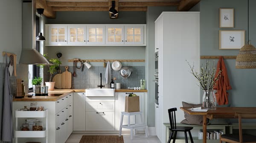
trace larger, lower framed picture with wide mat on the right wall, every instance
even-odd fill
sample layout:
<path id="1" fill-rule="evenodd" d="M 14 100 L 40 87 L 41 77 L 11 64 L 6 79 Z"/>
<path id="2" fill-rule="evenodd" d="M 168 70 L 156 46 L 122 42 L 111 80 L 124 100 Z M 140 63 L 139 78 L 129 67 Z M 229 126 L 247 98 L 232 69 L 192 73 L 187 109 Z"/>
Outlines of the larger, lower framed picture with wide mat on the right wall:
<path id="1" fill-rule="evenodd" d="M 220 30 L 219 50 L 239 50 L 245 44 L 245 30 Z"/>

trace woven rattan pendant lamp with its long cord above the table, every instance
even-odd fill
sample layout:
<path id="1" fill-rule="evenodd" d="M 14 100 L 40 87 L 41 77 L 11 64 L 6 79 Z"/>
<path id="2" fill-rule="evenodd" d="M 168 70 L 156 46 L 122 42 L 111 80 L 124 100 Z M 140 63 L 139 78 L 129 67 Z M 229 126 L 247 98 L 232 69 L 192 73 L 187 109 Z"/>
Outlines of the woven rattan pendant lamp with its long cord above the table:
<path id="1" fill-rule="evenodd" d="M 249 0 L 248 0 L 248 31 L 247 44 L 244 45 L 236 56 L 236 68 L 247 69 L 256 68 L 256 48 L 250 44 L 249 40 Z"/>

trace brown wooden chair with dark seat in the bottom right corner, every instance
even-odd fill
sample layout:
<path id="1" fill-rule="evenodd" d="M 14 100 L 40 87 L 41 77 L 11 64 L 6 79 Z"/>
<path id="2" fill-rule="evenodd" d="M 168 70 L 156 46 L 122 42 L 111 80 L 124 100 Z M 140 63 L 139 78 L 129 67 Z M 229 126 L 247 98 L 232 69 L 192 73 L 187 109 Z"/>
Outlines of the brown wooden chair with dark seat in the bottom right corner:
<path id="1" fill-rule="evenodd" d="M 239 134 L 220 135 L 220 143 L 256 143 L 256 136 L 242 133 L 242 118 L 256 119 L 255 113 L 236 113 L 235 118 L 239 121 Z"/>

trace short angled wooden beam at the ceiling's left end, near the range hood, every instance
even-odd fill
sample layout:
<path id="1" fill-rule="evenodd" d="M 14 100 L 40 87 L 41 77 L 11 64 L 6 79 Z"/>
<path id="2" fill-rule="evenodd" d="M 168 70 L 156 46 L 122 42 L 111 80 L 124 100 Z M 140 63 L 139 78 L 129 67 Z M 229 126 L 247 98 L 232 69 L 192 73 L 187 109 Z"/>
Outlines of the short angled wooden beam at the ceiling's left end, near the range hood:
<path id="1" fill-rule="evenodd" d="M 48 18 L 55 18 L 56 12 L 52 11 L 52 7 L 47 6 L 47 2 L 45 0 L 36 0 L 35 1 L 36 8 L 44 8 L 44 16 Z"/>

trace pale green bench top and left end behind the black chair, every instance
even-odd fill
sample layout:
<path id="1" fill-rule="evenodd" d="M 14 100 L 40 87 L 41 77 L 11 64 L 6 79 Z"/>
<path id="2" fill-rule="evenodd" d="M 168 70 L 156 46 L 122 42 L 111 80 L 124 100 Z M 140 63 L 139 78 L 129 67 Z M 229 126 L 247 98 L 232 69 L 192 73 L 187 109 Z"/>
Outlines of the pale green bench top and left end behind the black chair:
<path id="1" fill-rule="evenodd" d="M 164 126 L 166 126 L 166 143 L 169 139 L 169 135 L 170 135 L 170 131 L 169 131 L 169 126 L 170 123 L 163 123 Z M 187 124 L 183 124 L 183 123 L 176 123 L 176 126 L 189 126 L 189 127 L 193 127 L 193 129 L 203 129 L 202 125 L 187 125 Z M 224 134 L 226 133 L 226 127 L 228 127 L 229 125 L 207 125 L 207 129 L 221 129 Z"/>

